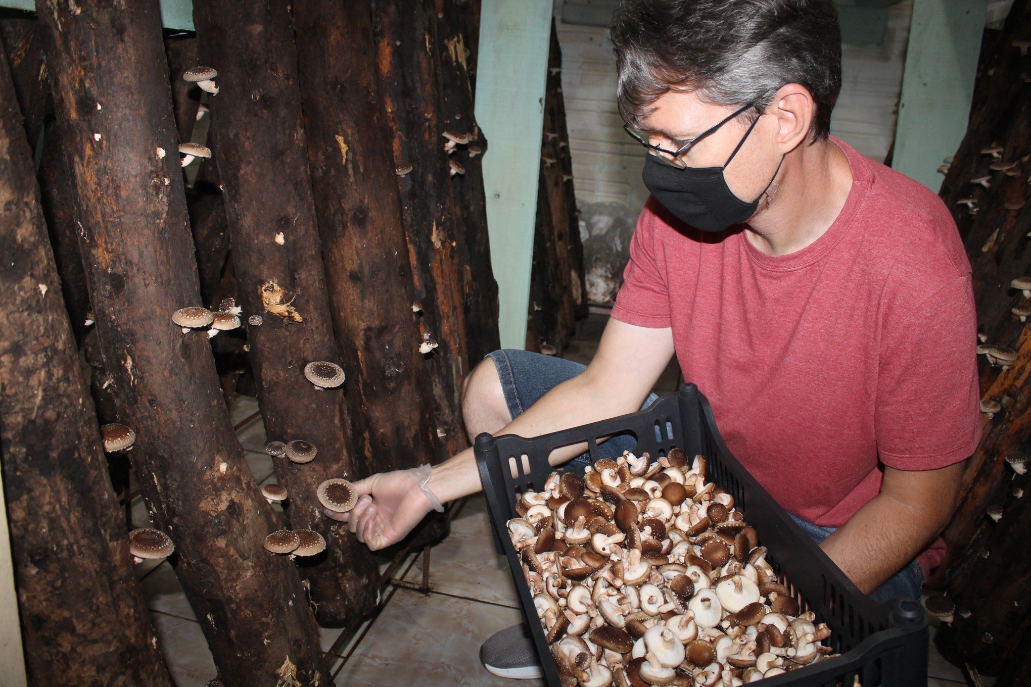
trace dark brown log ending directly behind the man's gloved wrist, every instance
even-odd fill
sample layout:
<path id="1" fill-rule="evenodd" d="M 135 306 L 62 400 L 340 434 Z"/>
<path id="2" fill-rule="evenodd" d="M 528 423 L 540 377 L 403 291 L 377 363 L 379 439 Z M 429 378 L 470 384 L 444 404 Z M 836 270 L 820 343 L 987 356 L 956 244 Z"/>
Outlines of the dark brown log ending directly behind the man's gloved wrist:
<path id="1" fill-rule="evenodd" d="M 368 0 L 295 0 L 308 167 L 358 476 L 438 455 Z M 287 240 L 290 240 L 289 235 Z"/>

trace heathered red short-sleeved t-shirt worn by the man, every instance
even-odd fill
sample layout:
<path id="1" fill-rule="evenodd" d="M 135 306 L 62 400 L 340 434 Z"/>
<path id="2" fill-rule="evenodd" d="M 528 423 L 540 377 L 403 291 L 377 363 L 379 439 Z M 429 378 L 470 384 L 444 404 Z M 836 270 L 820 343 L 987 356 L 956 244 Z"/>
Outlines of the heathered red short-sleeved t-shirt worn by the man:
<path id="1" fill-rule="evenodd" d="M 880 465 L 933 470 L 980 440 L 970 263 L 941 200 L 831 139 L 852 188 L 827 232 L 771 256 L 648 199 L 612 317 L 672 328 L 728 448 L 785 509 L 839 527 Z M 941 562 L 938 539 L 918 558 Z"/>

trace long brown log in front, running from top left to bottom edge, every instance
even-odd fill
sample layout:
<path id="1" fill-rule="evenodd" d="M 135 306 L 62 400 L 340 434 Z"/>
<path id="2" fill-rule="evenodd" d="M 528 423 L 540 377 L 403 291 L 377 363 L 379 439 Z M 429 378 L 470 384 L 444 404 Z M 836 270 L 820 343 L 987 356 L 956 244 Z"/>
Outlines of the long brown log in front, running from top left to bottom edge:
<path id="1" fill-rule="evenodd" d="M 39 15 L 97 331 L 137 433 L 151 518 L 176 544 L 176 576 L 227 685 L 329 684 L 300 577 L 264 549 L 276 518 L 233 433 L 208 338 L 171 321 L 200 294 L 158 2 L 49 0 Z"/>

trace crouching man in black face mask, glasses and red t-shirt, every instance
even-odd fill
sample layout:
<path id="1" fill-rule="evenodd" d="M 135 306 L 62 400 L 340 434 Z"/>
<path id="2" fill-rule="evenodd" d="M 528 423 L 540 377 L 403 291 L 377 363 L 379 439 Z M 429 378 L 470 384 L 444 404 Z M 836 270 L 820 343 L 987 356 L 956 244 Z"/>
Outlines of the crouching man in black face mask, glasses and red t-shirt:
<path id="1" fill-rule="evenodd" d="M 652 192 L 611 319 L 586 369 L 491 353 L 464 389 L 470 439 L 635 411 L 675 352 L 730 450 L 853 582 L 919 597 L 980 438 L 970 265 L 934 194 L 829 137 L 832 0 L 625 0 L 611 40 Z M 380 548 L 479 489 L 471 450 L 425 472 L 361 482 L 351 530 Z M 480 655 L 539 675 L 519 628 Z"/>

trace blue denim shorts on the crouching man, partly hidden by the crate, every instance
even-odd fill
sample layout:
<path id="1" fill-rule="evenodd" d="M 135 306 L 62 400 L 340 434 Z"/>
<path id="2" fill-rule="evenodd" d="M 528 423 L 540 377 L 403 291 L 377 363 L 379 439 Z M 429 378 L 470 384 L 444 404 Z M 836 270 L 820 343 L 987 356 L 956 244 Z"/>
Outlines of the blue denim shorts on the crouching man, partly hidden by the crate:
<path id="1" fill-rule="evenodd" d="M 514 348 L 496 350 L 485 357 L 494 360 L 498 377 L 501 379 L 501 390 L 505 396 L 508 413 L 513 418 L 537 403 L 553 387 L 572 379 L 587 369 L 586 366 L 573 360 Z M 651 406 L 658 398 L 655 393 L 650 393 L 641 409 Z M 613 435 L 608 441 L 598 445 L 598 455 L 602 458 L 614 458 L 623 455 L 624 451 L 634 450 L 636 446 L 637 440 L 632 435 Z M 573 462 L 590 465 L 591 456 L 583 453 L 573 458 Z M 817 544 L 830 537 L 835 529 L 813 524 L 790 513 L 789 515 Z M 894 577 L 874 589 L 870 593 L 870 598 L 875 602 L 886 602 L 895 596 L 919 599 L 923 584 L 924 573 L 920 564 L 911 560 Z"/>

